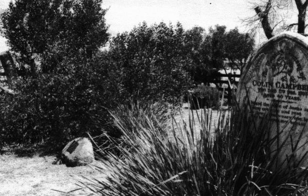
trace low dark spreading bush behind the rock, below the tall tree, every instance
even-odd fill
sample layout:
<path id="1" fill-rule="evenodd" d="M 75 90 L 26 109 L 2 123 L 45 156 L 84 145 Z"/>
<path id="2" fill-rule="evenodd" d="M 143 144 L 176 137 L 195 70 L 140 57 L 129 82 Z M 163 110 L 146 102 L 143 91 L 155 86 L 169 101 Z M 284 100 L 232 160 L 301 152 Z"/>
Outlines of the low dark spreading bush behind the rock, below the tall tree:
<path id="1" fill-rule="evenodd" d="M 61 147 L 86 132 L 99 135 L 103 129 L 113 129 L 108 125 L 112 119 L 106 107 L 113 108 L 116 100 L 106 98 L 110 97 L 106 88 L 97 91 L 92 79 L 93 64 L 83 61 L 68 64 L 63 67 L 70 68 L 20 80 L 15 89 L 18 94 L 2 96 L 0 132 L 3 141 L 45 141 Z M 104 102 L 99 96 L 104 97 Z"/>

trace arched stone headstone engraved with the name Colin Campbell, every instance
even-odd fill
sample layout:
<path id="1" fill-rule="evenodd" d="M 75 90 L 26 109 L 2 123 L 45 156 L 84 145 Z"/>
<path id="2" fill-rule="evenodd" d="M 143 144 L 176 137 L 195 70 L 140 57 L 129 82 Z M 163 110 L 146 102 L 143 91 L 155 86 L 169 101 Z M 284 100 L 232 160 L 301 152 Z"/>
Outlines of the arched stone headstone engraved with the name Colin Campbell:
<path id="1" fill-rule="evenodd" d="M 268 114 L 270 137 L 281 132 L 280 160 L 297 141 L 295 157 L 302 157 L 308 150 L 308 37 L 283 32 L 269 39 L 250 57 L 237 89 L 239 106 L 249 99 L 256 121 Z"/>

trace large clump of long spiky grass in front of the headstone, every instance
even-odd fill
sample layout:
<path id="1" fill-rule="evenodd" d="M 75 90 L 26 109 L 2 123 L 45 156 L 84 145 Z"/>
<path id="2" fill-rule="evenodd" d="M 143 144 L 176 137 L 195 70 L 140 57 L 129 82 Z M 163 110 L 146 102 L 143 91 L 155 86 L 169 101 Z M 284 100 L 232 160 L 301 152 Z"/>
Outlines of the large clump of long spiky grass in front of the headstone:
<path id="1" fill-rule="evenodd" d="M 81 185 L 96 195 L 307 193 L 307 170 L 292 161 L 282 166 L 281 148 L 271 151 L 276 138 L 268 136 L 267 116 L 256 128 L 247 108 L 221 111 L 217 127 L 211 129 L 211 110 L 192 112 L 199 113 L 191 113 L 188 122 L 171 117 L 172 126 L 153 115 L 140 121 L 131 111 L 125 117 L 112 113 L 123 134 L 125 145 L 117 146 L 121 155 L 109 152 L 102 160 L 104 166 L 97 166 L 102 173 L 110 172 L 107 180 L 88 178 Z M 159 127 L 167 129 L 169 136 Z"/>

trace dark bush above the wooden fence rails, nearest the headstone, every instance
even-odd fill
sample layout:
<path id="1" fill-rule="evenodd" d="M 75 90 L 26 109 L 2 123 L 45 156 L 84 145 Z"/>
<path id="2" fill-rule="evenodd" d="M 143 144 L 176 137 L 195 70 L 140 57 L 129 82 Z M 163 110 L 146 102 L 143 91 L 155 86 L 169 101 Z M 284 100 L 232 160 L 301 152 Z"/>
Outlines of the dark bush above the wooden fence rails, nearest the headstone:
<path id="1" fill-rule="evenodd" d="M 226 31 L 225 26 L 215 25 L 205 33 L 195 26 L 184 33 L 183 52 L 190 63 L 185 66 L 195 84 L 213 79 L 220 68 L 231 66 L 242 70 L 254 47 L 254 38 L 237 28 Z"/>

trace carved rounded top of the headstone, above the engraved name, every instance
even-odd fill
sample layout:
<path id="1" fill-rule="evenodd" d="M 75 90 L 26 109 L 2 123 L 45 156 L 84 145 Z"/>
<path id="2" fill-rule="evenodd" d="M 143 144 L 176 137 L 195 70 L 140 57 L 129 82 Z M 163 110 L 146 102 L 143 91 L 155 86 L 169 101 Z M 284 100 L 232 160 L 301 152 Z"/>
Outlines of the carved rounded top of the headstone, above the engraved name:
<path id="1" fill-rule="evenodd" d="M 249 86 L 251 91 L 258 81 L 271 84 L 280 78 L 287 84 L 308 84 L 305 75 L 308 76 L 308 37 L 295 32 L 282 32 L 268 39 L 252 53 L 239 80 L 237 101 L 240 105 L 244 104 L 246 88 Z"/>

